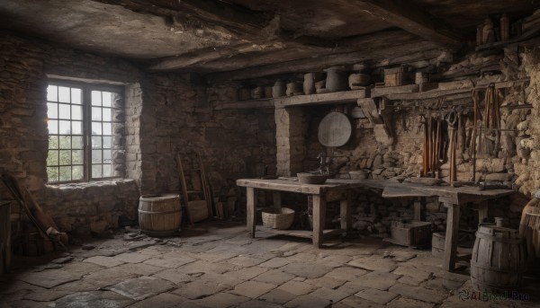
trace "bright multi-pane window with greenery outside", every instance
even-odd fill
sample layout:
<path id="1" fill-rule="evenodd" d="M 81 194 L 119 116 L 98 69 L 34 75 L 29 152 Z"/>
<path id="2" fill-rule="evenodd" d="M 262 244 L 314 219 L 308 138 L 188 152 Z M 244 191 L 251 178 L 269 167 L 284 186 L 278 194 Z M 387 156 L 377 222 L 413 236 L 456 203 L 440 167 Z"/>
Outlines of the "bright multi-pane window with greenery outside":
<path id="1" fill-rule="evenodd" d="M 49 182 L 110 178 L 118 89 L 49 83 Z"/>

